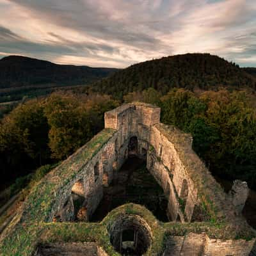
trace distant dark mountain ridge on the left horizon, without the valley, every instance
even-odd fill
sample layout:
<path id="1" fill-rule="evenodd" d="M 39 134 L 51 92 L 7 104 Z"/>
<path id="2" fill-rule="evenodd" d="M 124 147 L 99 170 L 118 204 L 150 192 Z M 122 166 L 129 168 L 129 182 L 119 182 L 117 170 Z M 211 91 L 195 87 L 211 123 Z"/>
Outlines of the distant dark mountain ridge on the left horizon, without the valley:
<path id="1" fill-rule="evenodd" d="M 116 68 L 58 65 L 24 56 L 8 56 L 0 60 L 0 88 L 36 84 L 88 84 L 109 76 Z"/>

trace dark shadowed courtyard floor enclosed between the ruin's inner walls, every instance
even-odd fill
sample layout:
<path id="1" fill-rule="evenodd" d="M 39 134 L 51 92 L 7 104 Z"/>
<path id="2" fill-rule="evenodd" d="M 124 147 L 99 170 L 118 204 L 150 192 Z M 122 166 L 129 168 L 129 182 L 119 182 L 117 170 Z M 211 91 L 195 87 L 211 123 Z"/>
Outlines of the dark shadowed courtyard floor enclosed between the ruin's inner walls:
<path id="1" fill-rule="evenodd" d="M 90 221 L 101 221 L 116 207 L 134 203 L 145 205 L 160 221 L 168 221 L 168 200 L 164 191 L 148 172 L 147 150 L 142 148 L 138 155 L 138 139 L 132 137 L 128 146 L 128 158 L 109 186 L 103 187 L 103 198 Z"/>

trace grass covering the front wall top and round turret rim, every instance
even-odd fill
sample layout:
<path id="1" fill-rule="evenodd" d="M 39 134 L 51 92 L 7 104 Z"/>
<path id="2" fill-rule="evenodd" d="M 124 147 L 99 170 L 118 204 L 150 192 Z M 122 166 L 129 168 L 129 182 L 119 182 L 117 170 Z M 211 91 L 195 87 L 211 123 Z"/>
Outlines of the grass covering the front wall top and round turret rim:
<path id="1" fill-rule="evenodd" d="M 35 204 L 33 207 L 37 207 Z M 14 232 L 1 243 L 0 255 L 5 256 L 27 256 L 35 252 L 36 246 L 40 243 L 58 242 L 96 242 L 108 255 L 120 255 L 110 243 L 109 228 L 119 217 L 127 215 L 140 216 L 145 220 L 154 237 L 152 244 L 145 255 L 161 255 L 164 252 L 164 245 L 167 237 L 185 236 L 191 232 L 202 234 L 205 232 L 214 239 L 252 239 L 253 234 L 242 232 L 237 235 L 237 230 L 223 223 L 195 222 L 161 223 L 156 220 L 152 212 L 145 207 L 136 204 L 125 204 L 109 212 L 101 223 L 43 223 L 39 221 L 40 216 L 30 215 L 33 219 L 25 219 L 15 226 Z M 28 216 L 26 216 L 28 218 Z M 33 220 L 33 222 L 32 222 Z M 38 222 L 37 222 L 38 221 Z M 39 237 L 39 240 L 38 238 Z"/>

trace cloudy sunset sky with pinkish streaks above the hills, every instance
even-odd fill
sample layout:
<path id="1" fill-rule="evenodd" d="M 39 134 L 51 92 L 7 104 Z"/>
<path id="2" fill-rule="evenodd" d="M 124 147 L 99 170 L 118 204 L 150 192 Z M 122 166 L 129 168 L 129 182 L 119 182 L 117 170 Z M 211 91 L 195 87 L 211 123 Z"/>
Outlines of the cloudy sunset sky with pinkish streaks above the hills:
<path id="1" fill-rule="evenodd" d="M 124 68 L 186 52 L 256 67 L 256 0 L 0 0 L 0 58 Z"/>

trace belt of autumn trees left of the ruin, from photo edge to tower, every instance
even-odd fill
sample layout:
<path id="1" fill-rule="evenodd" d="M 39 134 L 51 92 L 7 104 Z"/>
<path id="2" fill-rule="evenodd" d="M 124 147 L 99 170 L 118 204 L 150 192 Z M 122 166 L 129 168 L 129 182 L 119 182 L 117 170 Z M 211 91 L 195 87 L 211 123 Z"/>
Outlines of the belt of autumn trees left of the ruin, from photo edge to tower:
<path id="1" fill-rule="evenodd" d="M 118 104 L 106 95 L 61 92 L 20 104 L 0 124 L 1 174 L 13 179 L 65 159 L 104 127 L 104 112 Z"/>

